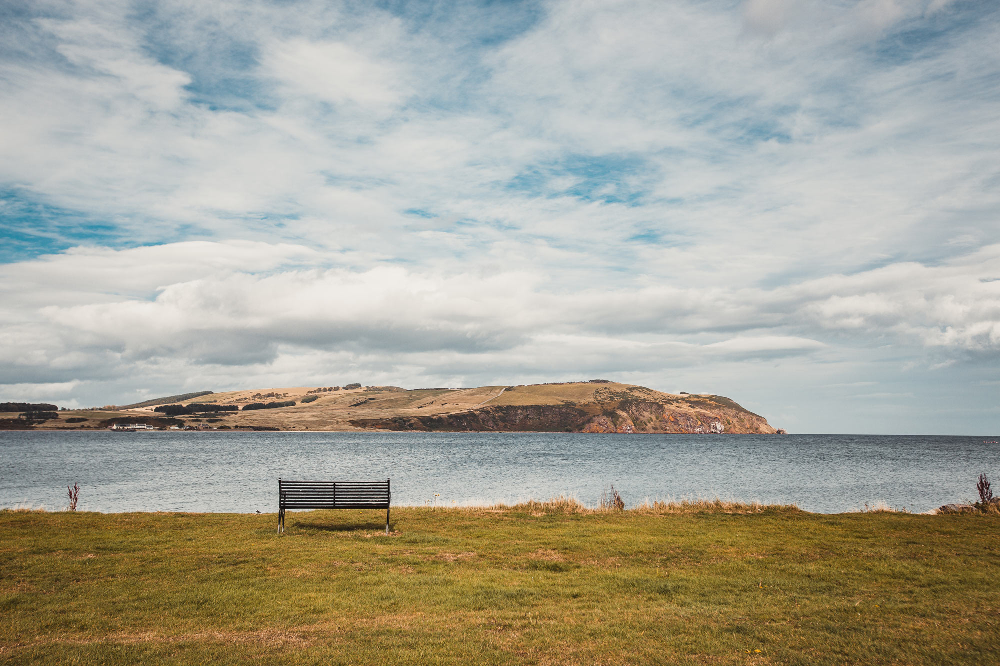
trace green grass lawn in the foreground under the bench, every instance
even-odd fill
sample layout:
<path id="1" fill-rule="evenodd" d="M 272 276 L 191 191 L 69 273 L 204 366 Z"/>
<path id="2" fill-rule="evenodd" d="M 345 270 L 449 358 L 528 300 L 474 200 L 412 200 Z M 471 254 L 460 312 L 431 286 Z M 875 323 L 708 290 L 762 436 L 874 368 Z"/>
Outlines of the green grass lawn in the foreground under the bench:
<path id="1" fill-rule="evenodd" d="M 0 512 L 7 663 L 995 664 L 1000 517 Z"/>

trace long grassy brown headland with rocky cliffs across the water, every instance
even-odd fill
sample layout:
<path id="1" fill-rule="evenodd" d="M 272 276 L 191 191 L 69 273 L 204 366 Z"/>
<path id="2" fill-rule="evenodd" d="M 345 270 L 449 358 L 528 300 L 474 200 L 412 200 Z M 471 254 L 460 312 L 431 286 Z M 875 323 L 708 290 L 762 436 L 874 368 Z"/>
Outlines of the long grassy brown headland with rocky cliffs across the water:
<path id="1" fill-rule="evenodd" d="M 332 387 L 329 387 L 332 388 Z M 157 426 L 277 430 L 533 431 L 601 433 L 774 433 L 763 417 L 729 398 L 675 395 L 606 381 L 475 388 L 402 389 L 367 386 L 280 387 L 187 400 L 147 400 L 130 408 L 70 410 L 40 428 L 106 427 L 114 422 Z M 180 397 L 180 396 L 175 396 Z M 294 402 L 295 404 L 290 404 Z M 246 409 L 268 404 L 267 409 Z M 279 406 L 273 406 L 276 403 Z M 173 414 L 171 405 L 233 405 L 236 411 Z M 157 411 L 159 410 L 159 411 Z M 16 417 L 16 414 L 0 415 Z M 15 418 L 6 421 L 14 422 Z M 15 423 L 15 425 L 17 425 Z"/>

